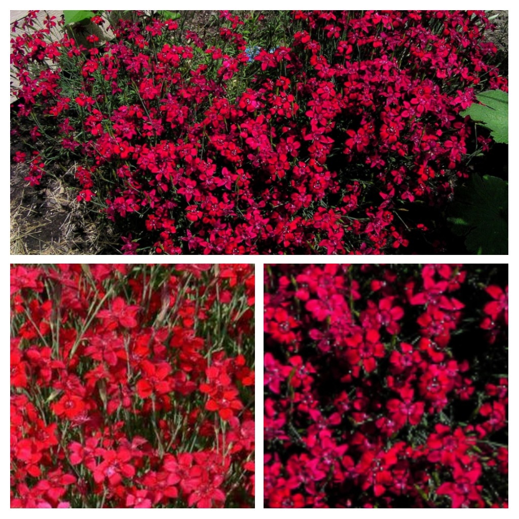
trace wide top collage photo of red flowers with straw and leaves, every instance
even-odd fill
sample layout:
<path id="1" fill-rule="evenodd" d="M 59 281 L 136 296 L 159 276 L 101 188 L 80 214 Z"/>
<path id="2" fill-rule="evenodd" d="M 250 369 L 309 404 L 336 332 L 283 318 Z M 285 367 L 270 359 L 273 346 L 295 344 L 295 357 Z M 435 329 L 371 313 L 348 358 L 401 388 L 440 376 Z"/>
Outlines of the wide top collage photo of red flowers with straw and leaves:
<path id="1" fill-rule="evenodd" d="M 508 11 L 12 11 L 15 254 L 508 254 Z"/>

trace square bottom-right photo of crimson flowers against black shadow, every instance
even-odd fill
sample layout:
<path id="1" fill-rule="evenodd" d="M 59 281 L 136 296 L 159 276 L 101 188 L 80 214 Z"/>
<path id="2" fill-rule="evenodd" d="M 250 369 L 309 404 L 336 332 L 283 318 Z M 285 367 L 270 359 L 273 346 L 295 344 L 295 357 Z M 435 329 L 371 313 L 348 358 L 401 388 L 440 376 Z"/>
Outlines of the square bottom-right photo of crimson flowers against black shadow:
<path id="1" fill-rule="evenodd" d="M 508 508 L 508 265 L 266 265 L 266 508 Z"/>

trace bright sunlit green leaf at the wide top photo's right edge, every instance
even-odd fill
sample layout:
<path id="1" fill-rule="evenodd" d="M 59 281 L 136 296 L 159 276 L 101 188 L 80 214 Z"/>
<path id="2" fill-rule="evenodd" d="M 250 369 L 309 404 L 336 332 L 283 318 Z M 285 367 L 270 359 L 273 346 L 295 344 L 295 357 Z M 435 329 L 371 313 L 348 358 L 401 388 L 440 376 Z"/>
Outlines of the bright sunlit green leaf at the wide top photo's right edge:
<path id="1" fill-rule="evenodd" d="M 495 142 L 508 144 L 508 93 L 488 90 L 477 94 L 476 98 L 482 104 L 473 103 L 460 115 L 469 115 L 471 119 L 488 128 Z"/>

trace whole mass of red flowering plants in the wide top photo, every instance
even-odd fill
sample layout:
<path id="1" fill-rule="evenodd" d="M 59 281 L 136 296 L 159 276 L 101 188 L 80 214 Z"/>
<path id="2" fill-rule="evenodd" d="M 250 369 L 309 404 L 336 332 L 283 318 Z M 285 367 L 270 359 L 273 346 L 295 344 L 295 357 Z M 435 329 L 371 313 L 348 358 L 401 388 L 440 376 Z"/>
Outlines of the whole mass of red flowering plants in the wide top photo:
<path id="1" fill-rule="evenodd" d="M 38 123 L 15 135 L 74 159 L 78 200 L 127 224 L 128 254 L 442 252 L 435 218 L 467 176 L 459 113 L 508 89 L 484 11 L 294 11 L 268 49 L 229 11 L 220 47 L 142 16 L 89 50 L 35 12 L 11 63 Z M 13 157 L 32 184 L 44 155 Z"/>

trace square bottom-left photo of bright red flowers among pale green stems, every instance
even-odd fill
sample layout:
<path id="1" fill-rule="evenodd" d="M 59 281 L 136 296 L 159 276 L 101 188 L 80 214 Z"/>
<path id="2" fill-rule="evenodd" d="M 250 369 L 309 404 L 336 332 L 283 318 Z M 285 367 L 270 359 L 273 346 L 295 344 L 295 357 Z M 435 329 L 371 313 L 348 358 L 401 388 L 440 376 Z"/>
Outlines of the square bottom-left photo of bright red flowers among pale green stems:
<path id="1" fill-rule="evenodd" d="M 254 266 L 11 265 L 11 508 L 254 506 Z"/>

